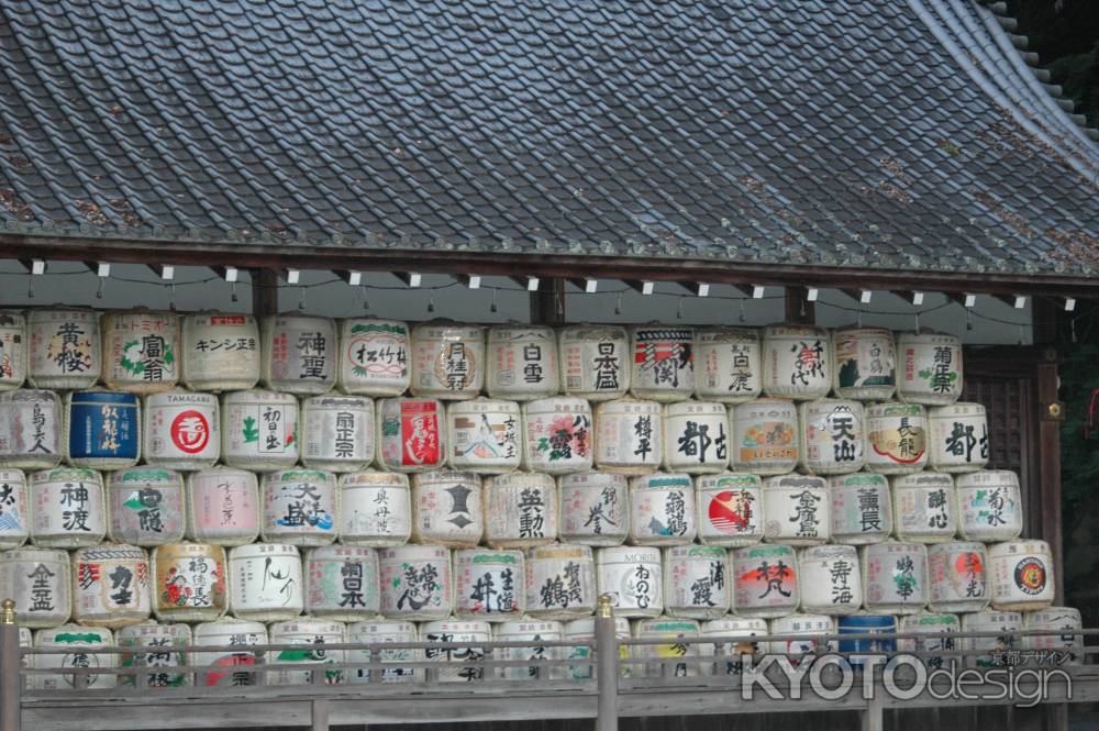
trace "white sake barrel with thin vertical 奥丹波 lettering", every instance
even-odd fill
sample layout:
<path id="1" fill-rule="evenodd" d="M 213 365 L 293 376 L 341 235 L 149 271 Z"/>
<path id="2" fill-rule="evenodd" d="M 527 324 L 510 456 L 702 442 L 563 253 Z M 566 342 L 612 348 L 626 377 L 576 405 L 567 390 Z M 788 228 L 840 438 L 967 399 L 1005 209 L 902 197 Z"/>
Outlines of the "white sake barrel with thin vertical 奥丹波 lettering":
<path id="1" fill-rule="evenodd" d="M 412 534 L 407 475 L 360 472 L 340 477 L 340 542 L 382 549 Z"/>

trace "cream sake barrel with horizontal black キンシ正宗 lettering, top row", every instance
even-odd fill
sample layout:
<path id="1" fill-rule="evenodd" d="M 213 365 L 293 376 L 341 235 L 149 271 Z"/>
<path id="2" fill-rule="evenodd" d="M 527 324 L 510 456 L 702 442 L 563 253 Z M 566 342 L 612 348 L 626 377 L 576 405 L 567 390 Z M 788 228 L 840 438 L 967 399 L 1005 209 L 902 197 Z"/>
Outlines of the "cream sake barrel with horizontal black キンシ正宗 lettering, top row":
<path id="1" fill-rule="evenodd" d="M 255 388 L 259 355 L 259 326 L 251 314 L 206 312 L 184 318 L 180 378 L 191 390 Z"/>

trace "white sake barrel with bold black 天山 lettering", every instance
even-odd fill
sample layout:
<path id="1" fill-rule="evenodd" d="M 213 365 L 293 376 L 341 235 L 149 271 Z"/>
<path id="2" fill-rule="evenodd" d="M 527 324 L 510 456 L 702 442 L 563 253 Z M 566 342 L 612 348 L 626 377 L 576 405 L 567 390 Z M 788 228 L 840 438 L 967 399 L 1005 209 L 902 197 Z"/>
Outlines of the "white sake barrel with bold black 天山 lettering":
<path id="1" fill-rule="evenodd" d="M 818 399 L 798 408 L 801 422 L 799 464 L 814 475 L 850 475 L 863 468 L 866 430 L 863 405 Z"/>

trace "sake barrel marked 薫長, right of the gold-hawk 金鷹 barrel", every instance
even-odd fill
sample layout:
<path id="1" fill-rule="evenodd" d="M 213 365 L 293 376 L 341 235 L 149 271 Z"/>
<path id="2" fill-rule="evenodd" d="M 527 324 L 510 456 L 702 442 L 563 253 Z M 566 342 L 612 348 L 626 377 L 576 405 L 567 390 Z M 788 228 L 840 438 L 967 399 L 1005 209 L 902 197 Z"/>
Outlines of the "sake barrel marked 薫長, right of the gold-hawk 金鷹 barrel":
<path id="1" fill-rule="evenodd" d="M 855 473 L 829 478 L 832 541 L 846 545 L 880 543 L 893 528 L 892 497 L 884 475 Z"/>

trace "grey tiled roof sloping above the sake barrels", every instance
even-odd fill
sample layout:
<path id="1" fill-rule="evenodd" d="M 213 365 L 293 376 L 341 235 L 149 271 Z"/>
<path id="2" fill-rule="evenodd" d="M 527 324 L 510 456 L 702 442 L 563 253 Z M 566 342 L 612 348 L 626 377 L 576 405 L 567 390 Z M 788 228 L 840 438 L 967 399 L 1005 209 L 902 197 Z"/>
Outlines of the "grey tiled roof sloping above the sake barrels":
<path id="1" fill-rule="evenodd" d="M 1013 41 L 974 0 L 3 0 L 0 239 L 1092 274 L 1099 146 Z"/>

